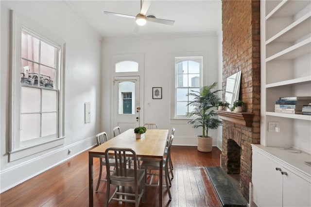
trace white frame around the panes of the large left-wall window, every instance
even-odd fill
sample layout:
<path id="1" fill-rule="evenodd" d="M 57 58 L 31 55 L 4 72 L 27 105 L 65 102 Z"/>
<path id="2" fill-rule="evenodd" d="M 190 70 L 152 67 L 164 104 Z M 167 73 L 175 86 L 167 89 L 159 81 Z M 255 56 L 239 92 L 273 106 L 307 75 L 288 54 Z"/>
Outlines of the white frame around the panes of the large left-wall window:
<path id="1" fill-rule="evenodd" d="M 25 17 L 17 15 L 13 10 L 10 11 L 10 32 L 11 32 L 11 129 L 9 136 L 9 161 L 15 161 L 17 159 L 34 155 L 36 153 L 52 149 L 54 147 L 64 144 L 64 71 L 63 71 L 63 59 L 65 42 L 53 35 L 50 31 L 42 29 L 40 25 L 34 25 L 32 21 L 27 20 Z M 23 147 L 20 145 L 20 119 L 21 119 L 21 84 L 20 84 L 20 68 L 21 68 L 21 32 L 26 28 L 27 33 L 35 37 L 39 37 L 45 42 L 51 43 L 60 49 L 59 52 L 59 63 L 58 63 L 58 73 L 55 74 L 57 77 L 57 100 L 58 100 L 58 116 L 57 116 L 57 134 L 56 138 L 45 138 L 32 143 L 32 145 Z"/>

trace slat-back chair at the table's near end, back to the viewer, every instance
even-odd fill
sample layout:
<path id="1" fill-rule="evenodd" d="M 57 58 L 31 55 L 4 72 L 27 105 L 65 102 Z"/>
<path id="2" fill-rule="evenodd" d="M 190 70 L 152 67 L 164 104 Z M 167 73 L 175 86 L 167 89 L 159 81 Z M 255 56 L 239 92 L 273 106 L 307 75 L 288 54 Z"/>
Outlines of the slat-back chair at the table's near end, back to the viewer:
<path id="1" fill-rule="evenodd" d="M 111 147 L 105 150 L 105 159 L 106 159 L 106 169 L 110 169 L 110 159 L 108 158 L 111 153 L 115 157 L 116 170 L 110 175 L 107 174 L 107 190 L 106 190 L 106 199 L 105 207 L 108 206 L 111 200 L 122 201 L 122 202 L 131 202 L 135 203 L 135 207 L 139 206 L 140 199 L 141 202 L 145 201 L 145 170 L 138 169 L 137 166 L 137 156 L 134 150 L 130 148 L 117 148 Z M 127 168 L 127 157 L 131 155 L 133 157 L 134 169 Z M 110 194 L 110 185 L 115 185 L 116 190 L 113 192 L 112 196 Z M 122 192 L 120 191 L 120 186 L 122 186 Z M 124 187 L 134 188 L 135 193 L 125 192 Z M 115 197 L 115 195 L 117 195 Z M 122 195 L 121 197 L 118 195 Z M 126 195 L 126 197 L 123 197 Z M 135 197 L 135 199 L 130 199 L 129 197 Z"/>

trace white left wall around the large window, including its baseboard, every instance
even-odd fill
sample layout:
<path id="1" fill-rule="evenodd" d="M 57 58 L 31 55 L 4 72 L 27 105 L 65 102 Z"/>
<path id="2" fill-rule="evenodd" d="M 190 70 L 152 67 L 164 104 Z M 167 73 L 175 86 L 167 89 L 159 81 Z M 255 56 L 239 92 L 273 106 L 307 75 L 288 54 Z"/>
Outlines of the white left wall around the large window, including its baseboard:
<path id="1" fill-rule="evenodd" d="M 95 145 L 101 124 L 101 37 L 61 1 L 0 1 L 0 191 L 43 172 Z M 9 10 L 50 31 L 66 42 L 65 49 L 65 144 L 8 162 L 10 68 Z M 90 102 L 91 120 L 84 123 L 84 103 Z M 68 155 L 68 149 L 71 154 Z M 22 172 L 22 173 L 21 173 Z"/>

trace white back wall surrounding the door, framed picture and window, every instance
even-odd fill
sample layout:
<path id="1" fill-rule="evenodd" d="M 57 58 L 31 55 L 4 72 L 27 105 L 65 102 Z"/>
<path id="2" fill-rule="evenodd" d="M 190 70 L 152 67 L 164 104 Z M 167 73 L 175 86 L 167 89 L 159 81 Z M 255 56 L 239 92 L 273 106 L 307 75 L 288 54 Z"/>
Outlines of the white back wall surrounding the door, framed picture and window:
<path id="1" fill-rule="evenodd" d="M 202 134 L 202 129 L 193 129 L 187 121 L 170 119 L 172 85 L 174 79 L 174 55 L 189 55 L 195 52 L 207 53 L 207 65 L 204 66 L 204 85 L 218 81 L 218 37 L 216 33 L 175 34 L 175 35 L 142 35 L 104 38 L 102 42 L 103 58 L 103 88 L 112 87 L 111 64 L 112 55 L 144 54 L 144 103 L 140 104 L 144 110 L 144 122 L 152 122 L 158 128 L 176 129 L 174 145 L 196 145 L 196 135 Z M 152 99 L 152 87 L 162 87 L 162 99 Z M 219 86 L 221 88 L 221 86 Z M 111 135 L 114 126 L 110 123 L 111 89 L 102 91 L 102 125 L 103 130 Z M 150 102 L 150 106 L 147 103 Z M 213 145 L 216 146 L 219 135 L 213 131 Z M 110 136 L 111 137 L 111 136 Z"/>

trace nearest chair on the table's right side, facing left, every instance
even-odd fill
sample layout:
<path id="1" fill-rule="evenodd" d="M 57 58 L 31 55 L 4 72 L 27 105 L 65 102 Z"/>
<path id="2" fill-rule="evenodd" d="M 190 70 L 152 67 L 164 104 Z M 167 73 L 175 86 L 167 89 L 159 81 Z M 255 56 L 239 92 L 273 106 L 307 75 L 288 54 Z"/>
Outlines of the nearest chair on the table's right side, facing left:
<path id="1" fill-rule="evenodd" d="M 168 146 L 168 153 L 167 153 L 166 158 L 163 159 L 163 173 L 164 173 L 164 177 L 165 177 L 165 186 L 163 185 L 163 188 L 164 187 L 167 188 L 170 200 L 172 200 L 172 195 L 171 195 L 171 190 L 170 190 L 172 183 L 171 183 L 171 180 L 169 179 L 169 168 L 168 168 L 168 166 L 169 166 L 169 160 L 170 160 L 170 156 L 171 156 L 171 147 L 172 147 L 173 139 L 174 139 L 174 136 L 171 135 L 169 146 Z M 146 174 L 147 174 L 147 170 L 152 170 L 150 172 L 154 172 L 156 170 L 159 171 L 160 170 L 160 162 L 144 160 L 144 161 L 142 161 L 142 163 L 140 165 L 140 169 L 144 169 L 146 171 Z M 147 183 L 147 177 L 145 178 L 146 186 L 159 186 L 159 183 L 153 184 L 154 176 L 159 175 L 159 174 L 155 174 L 155 173 L 148 173 L 148 174 L 150 174 L 151 177 L 150 177 L 149 183 Z"/>

